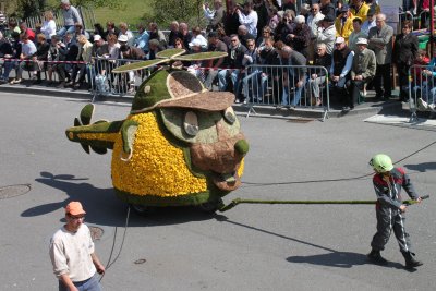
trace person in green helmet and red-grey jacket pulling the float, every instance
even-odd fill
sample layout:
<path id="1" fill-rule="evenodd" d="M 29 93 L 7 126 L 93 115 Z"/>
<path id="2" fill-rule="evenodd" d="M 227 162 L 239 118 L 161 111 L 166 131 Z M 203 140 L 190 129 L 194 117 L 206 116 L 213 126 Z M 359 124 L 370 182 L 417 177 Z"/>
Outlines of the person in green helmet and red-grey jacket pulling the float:
<path id="1" fill-rule="evenodd" d="M 392 160 L 387 155 L 375 155 L 371 159 L 370 166 L 376 172 L 373 177 L 373 184 L 377 195 L 377 232 L 371 242 L 373 250 L 367 254 L 367 257 L 375 264 L 388 264 L 382 257 L 380 251 L 385 250 L 385 245 L 389 241 L 390 233 L 393 230 L 400 251 L 405 259 L 405 268 L 414 268 L 423 265 L 423 263 L 413 257 L 414 253 L 411 251 L 409 234 L 404 230 L 403 214 L 407 210 L 407 206 L 401 199 L 401 187 L 405 190 L 412 199 L 421 202 L 421 197 L 414 191 L 413 184 L 409 175 L 405 174 L 404 169 L 393 168 Z"/>

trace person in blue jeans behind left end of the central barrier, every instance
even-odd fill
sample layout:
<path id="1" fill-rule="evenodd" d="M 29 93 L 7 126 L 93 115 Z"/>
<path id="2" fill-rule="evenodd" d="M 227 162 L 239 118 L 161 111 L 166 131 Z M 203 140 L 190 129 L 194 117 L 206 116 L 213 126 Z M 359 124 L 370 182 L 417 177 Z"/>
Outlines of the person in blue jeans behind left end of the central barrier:
<path id="1" fill-rule="evenodd" d="M 247 51 L 244 53 L 244 59 L 242 60 L 242 65 L 245 69 L 241 71 L 243 77 L 243 102 L 258 102 L 262 101 L 263 95 L 262 85 L 259 84 L 258 80 L 258 77 L 262 75 L 262 71 L 258 68 L 258 65 L 261 64 L 261 56 L 257 52 L 256 43 L 254 39 L 246 40 L 246 48 Z M 250 68 L 250 65 L 254 65 L 254 68 Z"/>

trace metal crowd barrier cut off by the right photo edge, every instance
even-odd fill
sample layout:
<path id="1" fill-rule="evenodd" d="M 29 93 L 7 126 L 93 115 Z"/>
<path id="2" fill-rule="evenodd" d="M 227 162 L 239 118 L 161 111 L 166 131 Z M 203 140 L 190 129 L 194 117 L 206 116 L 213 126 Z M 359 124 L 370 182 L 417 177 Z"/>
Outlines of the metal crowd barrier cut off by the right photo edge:
<path id="1" fill-rule="evenodd" d="M 417 121 L 417 111 L 436 117 L 436 66 L 414 64 L 409 69 L 410 122 Z"/>

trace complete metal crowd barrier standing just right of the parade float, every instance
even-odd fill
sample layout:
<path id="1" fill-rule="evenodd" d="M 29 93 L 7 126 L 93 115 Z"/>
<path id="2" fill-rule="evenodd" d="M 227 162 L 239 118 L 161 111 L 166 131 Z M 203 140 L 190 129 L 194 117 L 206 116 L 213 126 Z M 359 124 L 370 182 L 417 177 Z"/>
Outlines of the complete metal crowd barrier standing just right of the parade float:
<path id="1" fill-rule="evenodd" d="M 276 108 L 313 108 L 330 110 L 328 72 L 318 65 L 249 65 L 242 78 L 242 94 L 250 107 L 246 117 L 256 113 L 255 106 Z"/>

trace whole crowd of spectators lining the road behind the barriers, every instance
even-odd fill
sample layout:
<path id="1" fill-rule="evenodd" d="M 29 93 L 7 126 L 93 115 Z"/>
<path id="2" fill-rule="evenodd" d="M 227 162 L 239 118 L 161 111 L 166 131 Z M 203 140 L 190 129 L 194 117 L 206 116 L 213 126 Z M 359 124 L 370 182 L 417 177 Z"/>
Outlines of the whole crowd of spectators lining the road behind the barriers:
<path id="1" fill-rule="evenodd" d="M 414 9 L 412 1 L 403 2 L 403 10 Z M 417 9 L 428 7 L 429 1 L 421 2 Z M 413 23 L 402 21 L 396 36 L 376 0 L 303 1 L 300 9 L 295 0 L 232 0 L 227 8 L 222 0 L 214 0 L 211 5 L 203 4 L 206 27 L 172 21 L 167 35 L 154 22 L 137 25 L 136 34 L 126 23 L 111 21 L 106 29 L 96 23 L 93 32 L 85 31 L 77 9 L 69 0 L 60 4 L 63 26 L 58 31 L 51 11 L 44 13 L 44 23 L 35 31 L 23 21 L 9 19 L 8 29 L 3 29 L 8 37 L 0 35 L 1 83 L 21 83 L 23 71 L 28 71 L 36 84 L 46 72 L 49 86 L 57 73 L 59 88 L 90 86 L 98 76 L 116 82 L 110 71 L 119 64 L 117 60 L 153 60 L 167 48 L 182 48 L 187 53 L 227 52 L 221 59 L 183 65 L 209 89 L 232 90 L 237 102 L 323 106 L 323 90 L 330 89 L 334 101 L 352 110 L 370 86 L 376 99 L 391 98 L 392 64 L 399 76 L 400 100 L 405 101 L 409 69 L 427 64 L 412 33 Z M 10 80 L 12 70 L 16 74 Z M 427 72 L 434 74 L 432 70 L 422 74 L 429 75 Z M 129 72 L 125 83 L 131 93 L 135 74 Z M 424 90 L 428 94 L 422 101 L 428 107 L 436 89 L 432 93 L 427 85 Z"/>

